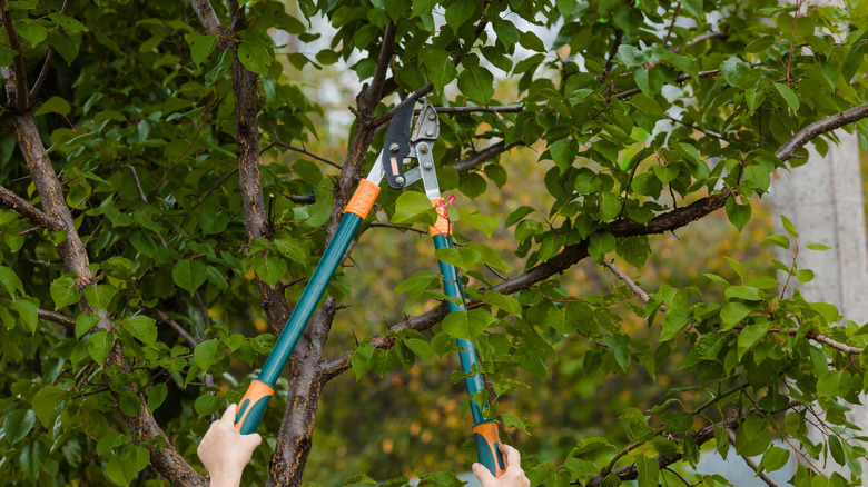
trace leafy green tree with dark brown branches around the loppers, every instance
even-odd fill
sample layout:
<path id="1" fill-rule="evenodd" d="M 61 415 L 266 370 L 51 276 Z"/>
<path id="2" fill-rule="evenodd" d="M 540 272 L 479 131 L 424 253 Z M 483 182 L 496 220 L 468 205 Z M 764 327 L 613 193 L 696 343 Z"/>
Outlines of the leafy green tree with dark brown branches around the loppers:
<path id="1" fill-rule="evenodd" d="M 865 140 L 868 18 L 864 1 L 850 3 L 359 0 L 299 1 L 287 13 L 273 0 L 0 0 L 0 473 L 21 485 L 207 484 L 185 457 L 210 415 L 243 394 L 247 378 L 229 371 L 262 362 L 394 107 L 425 97 L 445 107 L 434 148 L 445 188 L 483 199 L 510 179 L 502 155 L 539 149 L 553 203 L 505 219 L 523 259 L 509 275 L 496 250 L 462 233 L 493 220 L 454 216 L 468 245 L 468 307 L 483 311 L 467 329 L 442 325 L 437 279 L 417 275 L 402 289 L 430 308 L 326 352 L 354 292 L 338 275 L 266 415 L 277 433 L 251 481 L 302 483 L 329 380 L 452 354 L 455 337 L 476 341 L 497 395 L 521 374 L 545 378 L 564 344 L 582 354 L 582 374 L 601 377 L 653 377 L 683 358 L 689 387 L 624 409 L 620 433 L 575 438 L 558 465 L 529 457 L 534 484 L 720 485 L 673 468 L 696 465 L 709 441 L 726 455 L 730 434 L 766 470 L 803 458 L 793 485 L 857 481 L 866 450 L 837 399 L 865 390 L 858 324 L 734 260 L 737 279 L 702 282 L 722 294 L 663 285 L 649 295 L 622 270 L 641 272 L 653 236 L 717 210 L 742 228 L 771 175 L 809 142 L 823 151 L 829 131 L 858 128 Z M 275 46 L 278 31 L 319 38 L 317 16 L 336 29 L 328 47 Z M 539 29 L 558 32 L 552 44 Z M 317 151 L 323 109 L 296 81 L 338 61 L 365 82 L 339 163 Z M 357 238 L 394 231 L 378 227 L 396 199 L 384 191 Z M 789 236 L 768 240 L 795 248 L 785 227 Z M 588 258 L 624 286 L 568 292 L 560 276 Z M 639 306 L 624 301 L 631 292 Z M 244 322 L 259 308 L 267 328 L 256 335 Z M 489 414 L 504 426 L 527 427 L 497 406 Z M 836 434 L 813 444 L 818 407 Z M 772 434 L 792 449 L 771 446 Z M 818 474 L 827 456 L 852 478 Z M 423 481 L 455 483 L 448 473 Z"/>

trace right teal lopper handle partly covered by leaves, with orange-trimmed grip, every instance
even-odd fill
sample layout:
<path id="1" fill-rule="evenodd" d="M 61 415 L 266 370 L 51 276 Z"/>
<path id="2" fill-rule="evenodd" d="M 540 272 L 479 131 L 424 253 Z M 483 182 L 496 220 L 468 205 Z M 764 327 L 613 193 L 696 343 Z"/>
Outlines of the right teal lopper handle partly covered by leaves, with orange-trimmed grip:
<path id="1" fill-rule="evenodd" d="M 434 247 L 437 249 L 452 247 L 451 237 L 445 235 L 434 235 L 432 236 L 432 239 L 434 240 Z M 440 265 L 440 271 L 443 275 L 443 289 L 446 292 L 446 296 L 451 298 L 464 297 L 464 289 L 462 288 L 461 279 L 458 279 L 458 272 L 455 267 L 440 259 L 437 259 L 437 264 Z M 465 310 L 464 305 L 456 305 L 452 301 L 447 301 L 447 306 L 450 311 Z M 467 340 L 458 338 L 456 341 L 458 346 L 464 349 L 458 352 L 461 368 L 465 372 L 470 372 L 473 370 L 473 365 L 479 362 L 476 349 L 473 347 L 473 344 Z M 482 381 L 482 375 L 480 374 L 466 377 L 464 379 L 464 386 L 467 388 L 467 395 L 470 396 L 483 390 L 485 387 Z M 500 477 L 501 474 L 503 474 L 505 466 L 503 464 L 503 456 L 497 449 L 497 445 L 500 444 L 497 424 L 491 419 L 485 419 L 482 416 L 482 410 L 473 400 L 471 400 L 471 414 L 473 415 L 473 437 L 476 440 L 476 458 L 480 464 L 484 465 L 485 468 L 492 473 L 492 475 Z"/>

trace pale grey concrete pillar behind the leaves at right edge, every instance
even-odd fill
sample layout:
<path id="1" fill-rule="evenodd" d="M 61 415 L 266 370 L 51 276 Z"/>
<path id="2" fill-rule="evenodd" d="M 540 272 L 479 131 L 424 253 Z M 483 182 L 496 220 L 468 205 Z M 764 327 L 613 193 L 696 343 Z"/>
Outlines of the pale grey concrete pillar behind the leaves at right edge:
<path id="1" fill-rule="evenodd" d="M 775 215 L 789 218 L 799 233 L 799 247 L 807 244 L 825 244 L 831 250 L 800 250 L 796 264 L 801 269 L 811 269 L 813 280 L 800 284 L 790 280 L 788 295 L 798 287 L 805 298 L 838 307 L 845 320 L 859 325 L 868 322 L 868 242 L 860 171 L 859 141 L 856 135 L 838 130 L 840 143 L 829 146 L 829 152 L 821 157 L 812 145 L 808 146 L 808 162 L 792 169 L 792 173 L 779 171 L 772 185 Z M 780 219 L 776 232 L 787 235 Z M 792 257 L 778 249 L 778 260 L 790 265 Z M 782 274 L 782 272 L 781 272 Z M 779 275 L 779 281 L 786 275 Z M 862 402 L 866 402 L 862 399 Z M 868 402 L 866 402 L 868 404 Z M 868 406 L 848 405 L 847 418 L 868 430 Z M 862 433 L 864 434 L 864 433 Z M 822 435 L 811 431 L 813 441 L 823 440 Z M 868 473 L 868 463 L 862 470 Z M 815 465 L 822 465 L 817 463 Z M 850 478 L 850 471 L 829 459 L 827 475 L 838 471 Z"/>

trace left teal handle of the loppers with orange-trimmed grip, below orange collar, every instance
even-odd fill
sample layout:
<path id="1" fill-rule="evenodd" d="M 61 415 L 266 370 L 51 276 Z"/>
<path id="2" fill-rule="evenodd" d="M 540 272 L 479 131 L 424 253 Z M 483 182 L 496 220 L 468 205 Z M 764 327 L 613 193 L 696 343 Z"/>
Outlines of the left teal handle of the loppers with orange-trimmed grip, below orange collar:
<path id="1" fill-rule="evenodd" d="M 259 377 L 250 384 L 238 405 L 235 427 L 241 434 L 254 433 L 259 426 L 265 407 L 274 395 L 274 386 L 277 382 L 277 378 L 280 377 L 280 371 L 286 365 L 286 360 L 289 359 L 289 355 L 298 342 L 298 338 L 300 338 L 305 327 L 307 327 L 307 321 L 310 320 L 310 316 L 316 310 L 319 299 L 323 298 L 323 294 L 326 287 L 328 287 L 328 282 L 332 280 L 337 266 L 344 258 L 346 249 L 353 241 L 361 222 L 362 217 L 358 215 L 344 213 L 341 226 L 337 228 L 334 237 L 332 237 L 332 241 L 328 244 L 322 259 L 319 259 L 310 281 L 302 292 L 302 297 L 286 321 L 284 330 L 277 338 L 272 354 L 268 355 Z"/>

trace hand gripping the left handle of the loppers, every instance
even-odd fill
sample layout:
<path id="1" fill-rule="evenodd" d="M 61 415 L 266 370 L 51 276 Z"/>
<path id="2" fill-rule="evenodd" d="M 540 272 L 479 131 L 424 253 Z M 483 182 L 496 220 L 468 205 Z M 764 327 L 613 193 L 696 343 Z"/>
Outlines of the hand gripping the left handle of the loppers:
<path id="1" fill-rule="evenodd" d="M 256 433 L 241 435 L 235 429 L 236 407 L 229 406 L 223 418 L 211 423 L 196 450 L 211 477 L 211 487 L 240 485 L 244 467 L 250 463 L 253 450 L 263 441 Z"/>

